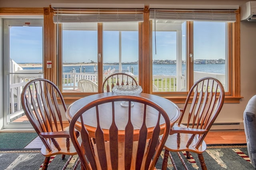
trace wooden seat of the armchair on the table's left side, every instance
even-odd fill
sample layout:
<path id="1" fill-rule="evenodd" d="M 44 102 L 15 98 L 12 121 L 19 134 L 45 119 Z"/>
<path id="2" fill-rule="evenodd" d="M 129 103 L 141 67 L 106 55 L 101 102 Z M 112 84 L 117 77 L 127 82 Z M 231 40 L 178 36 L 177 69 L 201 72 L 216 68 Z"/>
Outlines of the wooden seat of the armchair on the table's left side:
<path id="1" fill-rule="evenodd" d="M 56 154 L 65 154 L 65 155 L 75 155 L 76 154 L 76 149 L 74 148 L 71 140 L 70 140 L 70 150 L 67 150 L 66 148 L 66 138 L 55 138 L 55 140 L 58 142 L 60 145 L 61 150 L 58 150 L 54 144 L 52 143 L 51 140 L 47 140 L 47 142 L 50 144 L 52 151 L 48 151 L 45 147 L 45 145 L 42 146 L 41 152 L 44 156 L 53 156 Z"/>

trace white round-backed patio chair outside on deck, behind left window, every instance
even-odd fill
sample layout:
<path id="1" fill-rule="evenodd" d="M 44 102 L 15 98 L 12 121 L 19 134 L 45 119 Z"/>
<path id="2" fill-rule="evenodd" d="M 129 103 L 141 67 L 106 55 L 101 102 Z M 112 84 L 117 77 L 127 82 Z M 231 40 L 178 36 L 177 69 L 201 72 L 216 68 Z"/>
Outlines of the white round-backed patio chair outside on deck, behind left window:
<path id="1" fill-rule="evenodd" d="M 78 81 L 78 89 L 81 92 L 97 92 L 98 85 L 91 80 L 82 79 Z"/>

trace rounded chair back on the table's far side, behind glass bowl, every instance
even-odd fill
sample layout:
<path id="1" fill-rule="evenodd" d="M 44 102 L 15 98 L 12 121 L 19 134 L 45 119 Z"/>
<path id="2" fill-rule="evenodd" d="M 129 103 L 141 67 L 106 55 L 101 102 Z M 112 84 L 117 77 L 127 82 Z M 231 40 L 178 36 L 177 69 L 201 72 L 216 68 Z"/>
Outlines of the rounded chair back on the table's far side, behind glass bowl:
<path id="1" fill-rule="evenodd" d="M 132 75 L 126 73 L 114 73 L 103 81 L 102 92 L 111 92 L 115 85 L 138 85 L 138 83 Z"/>

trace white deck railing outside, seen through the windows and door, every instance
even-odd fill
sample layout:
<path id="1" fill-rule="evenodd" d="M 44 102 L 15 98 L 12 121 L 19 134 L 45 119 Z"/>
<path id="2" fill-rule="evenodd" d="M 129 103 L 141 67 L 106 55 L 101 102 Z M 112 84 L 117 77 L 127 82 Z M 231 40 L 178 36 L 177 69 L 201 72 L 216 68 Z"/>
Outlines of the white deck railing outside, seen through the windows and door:
<path id="1" fill-rule="evenodd" d="M 14 75 L 15 82 L 19 83 L 13 83 L 10 84 L 10 118 L 14 118 L 20 114 L 23 113 L 21 103 L 20 103 L 20 97 L 21 92 L 26 85 L 26 83 L 32 79 L 36 79 L 39 77 L 42 77 L 42 74 L 36 74 L 36 73 L 29 73 L 34 72 L 34 70 L 22 70 L 18 72 L 22 73 L 16 73 Z M 28 73 L 28 74 L 26 74 Z M 210 76 L 214 77 L 216 74 L 210 74 L 210 73 L 195 73 L 198 74 L 197 78 L 200 78 L 201 76 Z M 108 77 L 108 74 L 104 74 L 104 79 Z M 133 75 L 133 77 L 138 80 L 138 75 Z M 98 74 L 97 73 L 63 73 L 63 84 L 62 88 L 63 90 L 78 90 L 78 81 L 81 79 L 89 79 L 95 83 L 98 82 Z M 186 90 L 186 79 L 185 77 L 181 78 L 182 80 L 181 85 L 178 84 L 179 81 L 177 81 L 176 76 L 170 76 L 170 75 L 153 75 L 152 76 L 152 84 L 155 88 L 153 88 L 153 91 L 162 91 L 162 92 L 168 92 L 168 91 L 184 91 Z M 218 75 L 218 79 L 225 80 L 225 75 Z M 170 83 L 171 82 L 171 83 Z M 223 85 L 225 85 L 225 82 L 222 82 Z"/>

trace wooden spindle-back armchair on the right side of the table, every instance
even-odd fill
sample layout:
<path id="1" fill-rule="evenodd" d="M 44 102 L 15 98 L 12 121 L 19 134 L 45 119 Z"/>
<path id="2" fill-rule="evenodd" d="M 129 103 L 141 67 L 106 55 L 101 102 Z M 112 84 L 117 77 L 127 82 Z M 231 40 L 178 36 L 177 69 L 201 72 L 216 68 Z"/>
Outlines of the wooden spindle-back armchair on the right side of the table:
<path id="1" fill-rule="evenodd" d="M 190 152 L 197 153 L 202 170 L 207 169 L 202 154 L 206 150 L 204 138 L 222 109 L 224 94 L 222 84 L 215 78 L 205 77 L 194 83 L 183 109 L 180 109 L 180 119 L 171 128 L 166 140 L 163 170 L 166 170 L 168 156 L 172 160 L 174 169 L 177 169 L 170 152 L 177 152 L 187 169 L 180 151 L 186 151 L 187 158 L 190 158 Z M 191 103 L 190 107 L 189 103 Z"/>

